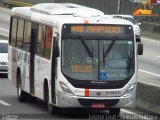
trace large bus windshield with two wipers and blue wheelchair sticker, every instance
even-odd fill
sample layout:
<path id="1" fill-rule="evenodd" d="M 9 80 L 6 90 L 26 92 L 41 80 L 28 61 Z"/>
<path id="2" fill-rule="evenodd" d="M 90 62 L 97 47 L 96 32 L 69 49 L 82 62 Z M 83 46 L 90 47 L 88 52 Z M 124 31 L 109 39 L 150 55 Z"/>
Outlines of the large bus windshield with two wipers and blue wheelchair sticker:
<path id="1" fill-rule="evenodd" d="M 65 38 L 62 73 L 74 80 L 125 80 L 134 73 L 134 41 Z"/>

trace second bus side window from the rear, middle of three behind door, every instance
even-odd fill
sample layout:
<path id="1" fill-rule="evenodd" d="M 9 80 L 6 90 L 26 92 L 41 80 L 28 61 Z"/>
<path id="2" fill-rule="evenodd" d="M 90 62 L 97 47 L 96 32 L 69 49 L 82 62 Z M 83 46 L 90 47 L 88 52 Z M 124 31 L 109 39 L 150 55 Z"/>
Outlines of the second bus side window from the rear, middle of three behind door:
<path id="1" fill-rule="evenodd" d="M 24 30 L 24 20 L 18 20 L 17 29 L 17 47 L 22 48 L 23 45 L 23 30 Z"/>

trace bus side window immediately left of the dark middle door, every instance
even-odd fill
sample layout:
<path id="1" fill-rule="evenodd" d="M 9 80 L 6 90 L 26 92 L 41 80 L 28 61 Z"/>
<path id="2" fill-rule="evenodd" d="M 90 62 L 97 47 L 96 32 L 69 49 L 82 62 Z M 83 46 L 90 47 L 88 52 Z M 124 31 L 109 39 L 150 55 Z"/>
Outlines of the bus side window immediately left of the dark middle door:
<path id="1" fill-rule="evenodd" d="M 31 22 L 25 21 L 23 49 L 29 51 L 31 41 Z"/>

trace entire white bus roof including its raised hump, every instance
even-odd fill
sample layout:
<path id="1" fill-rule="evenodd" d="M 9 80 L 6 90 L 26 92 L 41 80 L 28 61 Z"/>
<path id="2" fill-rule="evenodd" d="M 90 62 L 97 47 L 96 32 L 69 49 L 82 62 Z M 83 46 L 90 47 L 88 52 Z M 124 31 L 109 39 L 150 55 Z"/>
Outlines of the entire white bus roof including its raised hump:
<path id="1" fill-rule="evenodd" d="M 15 7 L 11 15 L 53 26 L 66 23 L 132 24 L 126 20 L 106 17 L 100 10 L 70 3 L 41 3 L 32 7 Z"/>

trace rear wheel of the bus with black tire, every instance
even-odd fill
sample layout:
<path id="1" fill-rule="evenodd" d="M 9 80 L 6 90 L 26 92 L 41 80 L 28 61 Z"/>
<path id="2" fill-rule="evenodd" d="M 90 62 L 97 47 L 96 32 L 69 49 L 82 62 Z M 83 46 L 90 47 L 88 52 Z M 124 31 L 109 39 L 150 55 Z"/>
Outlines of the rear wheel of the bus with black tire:
<path id="1" fill-rule="evenodd" d="M 17 75 L 17 96 L 20 102 L 26 102 L 28 94 L 22 90 L 21 75 Z"/>

